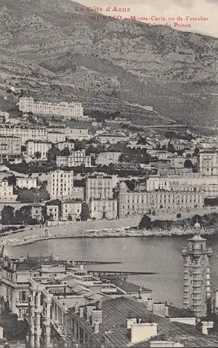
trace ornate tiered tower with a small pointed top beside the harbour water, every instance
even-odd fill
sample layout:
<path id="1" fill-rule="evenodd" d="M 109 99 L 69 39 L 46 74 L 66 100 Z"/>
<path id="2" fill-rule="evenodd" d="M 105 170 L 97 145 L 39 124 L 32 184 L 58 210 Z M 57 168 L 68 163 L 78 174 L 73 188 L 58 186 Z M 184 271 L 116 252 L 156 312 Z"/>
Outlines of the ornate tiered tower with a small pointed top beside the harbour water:
<path id="1" fill-rule="evenodd" d="M 210 258 L 212 248 L 207 248 L 207 239 L 201 237 L 201 226 L 198 222 L 194 228 L 194 237 L 188 239 L 188 246 L 182 248 L 184 259 L 183 306 L 190 308 L 196 317 L 207 313 L 210 290 Z"/>

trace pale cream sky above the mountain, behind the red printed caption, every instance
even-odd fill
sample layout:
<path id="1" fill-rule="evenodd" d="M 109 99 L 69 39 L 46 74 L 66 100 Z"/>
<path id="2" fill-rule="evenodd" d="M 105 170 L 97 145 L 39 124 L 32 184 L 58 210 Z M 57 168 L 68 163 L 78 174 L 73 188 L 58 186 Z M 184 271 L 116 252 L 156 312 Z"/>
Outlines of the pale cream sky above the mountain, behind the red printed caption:
<path id="1" fill-rule="evenodd" d="M 171 27 L 181 31 L 194 31 L 218 38 L 218 0 L 77 0 L 84 6 L 103 8 L 103 15 L 120 15 L 145 17 L 143 22 L 156 24 L 171 24 Z M 110 7 L 110 11 L 106 8 Z M 112 11 L 112 8 L 130 8 L 128 12 Z M 152 19 L 151 19 L 151 16 Z M 165 20 L 156 20 L 155 17 L 165 17 Z M 178 19 L 178 16 L 183 19 Z M 190 21 L 186 16 L 204 17 L 206 20 Z M 146 19 L 146 17 L 148 19 Z M 174 17 L 174 19 L 169 19 Z M 150 19 L 150 20 L 149 20 Z M 191 27 L 178 27 L 176 24 L 190 24 Z"/>

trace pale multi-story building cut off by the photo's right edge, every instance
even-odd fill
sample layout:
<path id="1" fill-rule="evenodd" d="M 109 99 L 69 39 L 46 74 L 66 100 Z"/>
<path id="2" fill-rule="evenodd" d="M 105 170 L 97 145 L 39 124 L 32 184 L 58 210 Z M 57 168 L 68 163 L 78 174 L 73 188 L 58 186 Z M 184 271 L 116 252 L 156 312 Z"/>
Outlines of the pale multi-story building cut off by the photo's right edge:
<path id="1" fill-rule="evenodd" d="M 218 150 L 206 150 L 197 155 L 197 171 L 201 175 L 218 175 Z"/>

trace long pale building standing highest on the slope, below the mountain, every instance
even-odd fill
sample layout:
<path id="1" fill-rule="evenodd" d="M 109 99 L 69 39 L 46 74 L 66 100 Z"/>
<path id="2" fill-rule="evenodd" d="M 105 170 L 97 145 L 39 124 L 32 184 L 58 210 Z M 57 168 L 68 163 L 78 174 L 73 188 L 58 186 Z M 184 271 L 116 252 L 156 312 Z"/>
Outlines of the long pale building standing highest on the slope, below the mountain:
<path id="1" fill-rule="evenodd" d="M 42 113 L 44 115 L 62 116 L 65 119 L 82 118 L 83 106 L 78 102 L 35 102 L 33 98 L 21 97 L 19 98 L 19 110 L 33 113 Z"/>

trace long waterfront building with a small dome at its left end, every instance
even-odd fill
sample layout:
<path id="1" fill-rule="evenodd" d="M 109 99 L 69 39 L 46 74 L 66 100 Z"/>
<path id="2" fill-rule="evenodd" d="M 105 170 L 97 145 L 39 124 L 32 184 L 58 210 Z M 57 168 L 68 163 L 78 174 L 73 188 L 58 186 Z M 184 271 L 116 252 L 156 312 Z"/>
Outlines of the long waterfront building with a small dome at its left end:
<path id="1" fill-rule="evenodd" d="M 119 184 L 118 216 L 144 214 L 147 212 L 181 212 L 202 208 L 203 193 L 167 191 L 128 191 L 126 184 Z"/>

